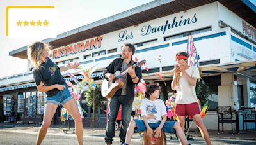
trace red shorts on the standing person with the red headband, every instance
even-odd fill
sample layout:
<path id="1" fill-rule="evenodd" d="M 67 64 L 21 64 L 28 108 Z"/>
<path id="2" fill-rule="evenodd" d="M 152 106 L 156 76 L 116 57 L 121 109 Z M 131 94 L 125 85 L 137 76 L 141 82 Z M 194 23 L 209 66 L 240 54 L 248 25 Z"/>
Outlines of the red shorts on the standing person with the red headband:
<path id="1" fill-rule="evenodd" d="M 178 116 L 194 116 L 195 114 L 200 114 L 200 109 L 197 102 L 191 104 L 175 104 L 175 114 Z"/>

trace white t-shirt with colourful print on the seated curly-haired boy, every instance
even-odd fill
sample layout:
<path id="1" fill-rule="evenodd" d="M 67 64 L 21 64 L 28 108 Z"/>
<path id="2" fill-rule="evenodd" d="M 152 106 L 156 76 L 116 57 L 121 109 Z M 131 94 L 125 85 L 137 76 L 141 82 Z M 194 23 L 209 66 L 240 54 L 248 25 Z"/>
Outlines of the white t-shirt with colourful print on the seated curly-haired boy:
<path id="1" fill-rule="evenodd" d="M 147 116 L 148 123 L 157 123 L 162 120 L 162 116 L 167 114 L 164 101 L 143 99 L 141 102 L 141 116 Z"/>

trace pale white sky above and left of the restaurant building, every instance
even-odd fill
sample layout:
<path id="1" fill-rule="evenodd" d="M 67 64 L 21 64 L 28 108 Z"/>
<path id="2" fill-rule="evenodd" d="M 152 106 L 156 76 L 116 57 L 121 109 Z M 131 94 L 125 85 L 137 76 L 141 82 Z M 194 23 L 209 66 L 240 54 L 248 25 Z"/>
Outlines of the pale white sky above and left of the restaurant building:
<path id="1" fill-rule="evenodd" d="M 40 39 L 17 39 L 6 36 L 6 6 L 54 6 L 57 11 L 57 34 L 90 24 L 152 0 L 2 0 L 0 4 L 0 78 L 27 72 L 27 60 L 9 56 L 9 52 Z"/>

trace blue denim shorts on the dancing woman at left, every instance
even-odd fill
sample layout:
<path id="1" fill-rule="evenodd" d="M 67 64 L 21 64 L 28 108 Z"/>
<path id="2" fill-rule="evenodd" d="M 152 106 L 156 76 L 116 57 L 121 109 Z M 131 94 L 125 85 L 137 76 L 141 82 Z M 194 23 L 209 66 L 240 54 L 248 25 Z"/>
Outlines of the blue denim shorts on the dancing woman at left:
<path id="1" fill-rule="evenodd" d="M 68 102 L 68 100 L 71 100 L 72 95 L 70 94 L 69 90 L 68 90 L 68 86 L 65 84 L 65 88 L 64 90 L 60 90 L 56 95 L 52 96 L 52 97 L 47 97 L 46 98 L 46 102 L 45 103 L 53 103 L 53 104 L 57 104 L 57 105 L 64 105 L 65 103 Z"/>

